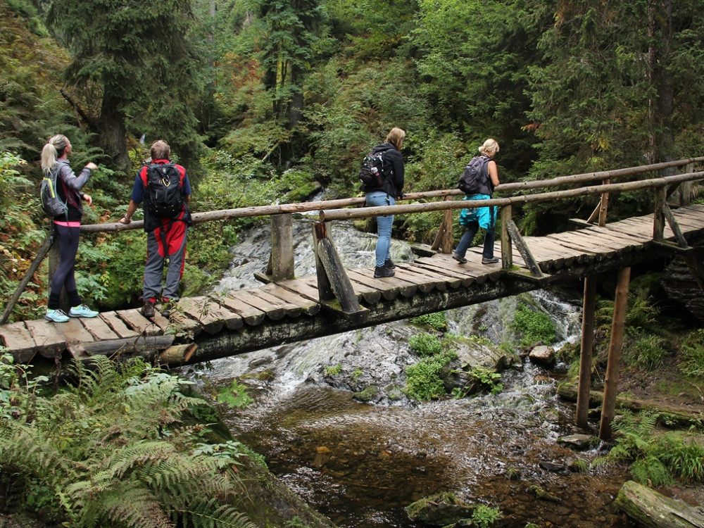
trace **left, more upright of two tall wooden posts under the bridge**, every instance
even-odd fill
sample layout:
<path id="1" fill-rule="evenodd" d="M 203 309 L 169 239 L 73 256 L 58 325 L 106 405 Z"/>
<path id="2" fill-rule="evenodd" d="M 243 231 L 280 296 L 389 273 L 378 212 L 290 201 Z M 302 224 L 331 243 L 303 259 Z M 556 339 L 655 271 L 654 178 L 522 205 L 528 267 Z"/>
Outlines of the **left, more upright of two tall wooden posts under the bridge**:
<path id="1" fill-rule="evenodd" d="M 582 345 L 579 353 L 579 384 L 577 385 L 577 425 L 586 427 L 589 418 L 591 389 L 591 359 L 594 344 L 594 310 L 596 308 L 596 277 L 584 277 L 582 304 Z"/>

